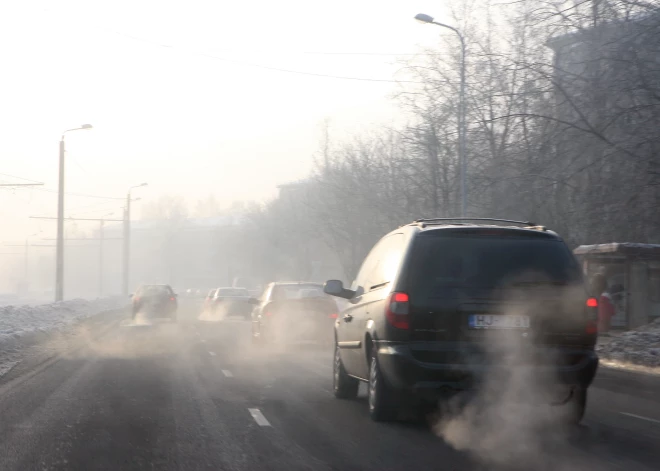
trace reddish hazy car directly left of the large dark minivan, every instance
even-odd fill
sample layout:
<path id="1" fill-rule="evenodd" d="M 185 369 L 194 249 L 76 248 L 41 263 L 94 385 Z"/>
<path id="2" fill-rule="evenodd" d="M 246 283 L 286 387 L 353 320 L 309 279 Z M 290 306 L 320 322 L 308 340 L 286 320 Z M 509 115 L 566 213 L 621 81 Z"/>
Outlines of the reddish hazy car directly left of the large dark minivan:
<path id="1" fill-rule="evenodd" d="M 311 341 L 332 343 L 337 303 L 323 292 L 321 283 L 274 282 L 250 301 L 252 340 L 255 343 L 292 345 Z"/>

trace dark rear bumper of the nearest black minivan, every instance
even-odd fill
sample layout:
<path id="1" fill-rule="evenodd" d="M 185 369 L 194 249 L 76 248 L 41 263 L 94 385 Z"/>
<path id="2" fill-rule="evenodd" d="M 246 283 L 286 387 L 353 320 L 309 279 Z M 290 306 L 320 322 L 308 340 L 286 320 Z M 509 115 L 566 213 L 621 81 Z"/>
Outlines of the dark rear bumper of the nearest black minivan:
<path id="1" fill-rule="evenodd" d="M 541 378 L 547 385 L 588 388 L 598 369 L 598 356 L 593 350 L 566 347 L 537 347 L 533 354 L 540 358 L 577 359 L 570 365 L 561 364 L 484 364 L 478 362 L 436 363 L 420 361 L 420 351 L 448 353 L 448 358 L 470 358 L 465 348 L 455 344 L 414 345 L 378 342 L 378 362 L 387 382 L 400 390 L 425 395 L 443 395 L 452 392 L 479 389 L 484 381 L 497 378 L 501 372 L 512 370 L 529 378 Z M 421 348 L 421 349 L 419 349 Z M 453 354 L 453 355 L 452 355 Z M 532 356 L 532 355 L 530 355 Z M 537 357 L 537 358 L 538 358 Z M 537 384 L 538 385 L 538 384 Z"/>

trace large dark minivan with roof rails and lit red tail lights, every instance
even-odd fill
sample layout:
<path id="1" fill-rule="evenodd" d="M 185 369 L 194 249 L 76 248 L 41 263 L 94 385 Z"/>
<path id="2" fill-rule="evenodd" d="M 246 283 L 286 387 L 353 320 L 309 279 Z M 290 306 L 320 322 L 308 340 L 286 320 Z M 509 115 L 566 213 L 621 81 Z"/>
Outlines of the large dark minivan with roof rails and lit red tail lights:
<path id="1" fill-rule="evenodd" d="M 500 371 L 533 375 L 521 386 L 525 400 L 556 392 L 542 403 L 560 405 L 566 422 L 584 414 L 598 303 L 571 251 L 544 227 L 421 219 L 383 237 L 350 289 L 339 280 L 324 289 L 347 300 L 335 323 L 334 394 L 355 397 L 367 382 L 374 420 L 479 394 Z"/>

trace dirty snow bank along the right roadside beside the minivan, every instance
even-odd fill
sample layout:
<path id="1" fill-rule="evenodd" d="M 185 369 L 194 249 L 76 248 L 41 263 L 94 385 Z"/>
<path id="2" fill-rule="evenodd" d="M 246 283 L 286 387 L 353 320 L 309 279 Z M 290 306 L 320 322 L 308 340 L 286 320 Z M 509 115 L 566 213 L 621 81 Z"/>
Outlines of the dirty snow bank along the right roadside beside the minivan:
<path id="1" fill-rule="evenodd" d="M 660 367 L 660 319 L 624 332 L 596 347 L 603 360 L 646 367 Z"/>

